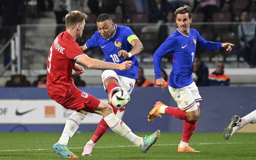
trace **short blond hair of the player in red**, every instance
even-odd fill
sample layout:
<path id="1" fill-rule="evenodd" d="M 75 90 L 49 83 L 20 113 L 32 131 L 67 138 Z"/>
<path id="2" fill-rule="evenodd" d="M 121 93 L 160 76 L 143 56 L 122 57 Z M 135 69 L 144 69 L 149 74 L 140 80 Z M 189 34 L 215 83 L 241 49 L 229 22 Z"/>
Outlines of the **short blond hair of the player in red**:
<path id="1" fill-rule="evenodd" d="M 86 21 L 88 15 L 81 11 L 71 11 L 65 17 L 66 28 L 73 28 L 75 25 Z"/>

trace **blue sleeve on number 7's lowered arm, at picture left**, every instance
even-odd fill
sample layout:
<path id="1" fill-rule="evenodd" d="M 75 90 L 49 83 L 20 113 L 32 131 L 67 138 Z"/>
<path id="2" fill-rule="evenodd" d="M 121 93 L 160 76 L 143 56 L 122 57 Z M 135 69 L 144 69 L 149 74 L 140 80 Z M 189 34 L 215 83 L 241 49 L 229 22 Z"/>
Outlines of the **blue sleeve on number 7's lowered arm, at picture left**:
<path id="1" fill-rule="evenodd" d="M 162 78 L 161 73 L 161 58 L 168 53 L 174 51 L 174 38 L 169 36 L 163 44 L 155 51 L 153 55 L 153 64 L 154 64 L 154 71 L 155 71 L 155 78 Z"/>

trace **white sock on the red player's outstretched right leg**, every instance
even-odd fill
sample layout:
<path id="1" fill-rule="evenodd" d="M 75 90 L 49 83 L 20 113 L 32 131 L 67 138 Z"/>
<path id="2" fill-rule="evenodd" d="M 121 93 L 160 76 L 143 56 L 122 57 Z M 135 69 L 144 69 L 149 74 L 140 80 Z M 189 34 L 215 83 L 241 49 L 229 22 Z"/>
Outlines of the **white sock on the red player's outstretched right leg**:
<path id="1" fill-rule="evenodd" d="M 143 147 L 143 138 L 132 133 L 132 130 L 121 119 L 117 118 L 114 113 L 104 117 L 104 120 L 115 133 L 128 139 L 137 147 Z"/>

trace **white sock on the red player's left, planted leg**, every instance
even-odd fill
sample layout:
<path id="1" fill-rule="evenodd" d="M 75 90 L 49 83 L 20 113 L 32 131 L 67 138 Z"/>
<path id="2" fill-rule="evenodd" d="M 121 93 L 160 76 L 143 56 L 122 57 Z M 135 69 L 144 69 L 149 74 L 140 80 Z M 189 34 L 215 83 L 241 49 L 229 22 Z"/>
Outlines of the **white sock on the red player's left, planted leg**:
<path id="1" fill-rule="evenodd" d="M 84 120 L 84 118 L 85 115 L 80 112 L 75 111 L 72 113 L 66 122 L 58 143 L 67 145 L 69 138 L 75 134 L 79 128 L 79 124 L 82 122 L 82 120 Z"/>

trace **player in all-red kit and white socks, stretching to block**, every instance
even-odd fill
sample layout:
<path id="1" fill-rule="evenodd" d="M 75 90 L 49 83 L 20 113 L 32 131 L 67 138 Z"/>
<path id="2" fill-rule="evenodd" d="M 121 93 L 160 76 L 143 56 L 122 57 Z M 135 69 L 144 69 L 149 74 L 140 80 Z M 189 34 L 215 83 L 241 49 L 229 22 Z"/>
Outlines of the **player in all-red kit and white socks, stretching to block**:
<path id="1" fill-rule="evenodd" d="M 72 69 L 75 70 L 76 75 L 84 73 L 84 68 L 76 64 L 76 60 L 93 69 L 128 70 L 132 66 L 132 61 L 113 64 L 92 59 L 82 52 L 75 40 L 82 38 L 86 18 L 87 15 L 80 11 L 69 12 L 65 18 L 66 31 L 60 33 L 55 38 L 49 51 L 47 62 L 48 94 L 64 108 L 76 111 L 75 114 L 80 113 L 79 116 L 72 114 L 68 118 L 68 122 L 66 122 L 59 141 L 53 145 L 52 149 L 63 158 L 77 158 L 74 153 L 69 151 L 67 146 L 68 140 L 74 135 L 75 131 L 77 131 L 85 115 L 90 112 L 102 115 L 106 124 L 110 126 L 115 133 L 130 140 L 130 142 L 145 153 L 155 144 L 160 135 L 160 131 L 157 130 L 155 133 L 145 138 L 135 135 L 122 120 L 115 116 L 110 105 L 101 102 L 89 93 L 77 89 L 71 78 Z"/>

